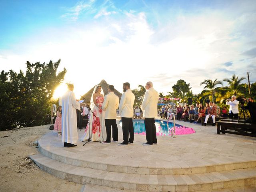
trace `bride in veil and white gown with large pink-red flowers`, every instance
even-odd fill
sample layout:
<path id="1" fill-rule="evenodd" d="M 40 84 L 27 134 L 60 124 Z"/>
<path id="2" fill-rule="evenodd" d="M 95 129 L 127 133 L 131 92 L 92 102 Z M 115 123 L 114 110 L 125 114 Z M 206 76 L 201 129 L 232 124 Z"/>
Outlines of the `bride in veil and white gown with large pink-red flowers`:
<path id="1" fill-rule="evenodd" d="M 92 141 L 105 141 L 106 140 L 106 127 L 105 127 L 105 112 L 102 110 L 102 103 L 104 101 L 104 95 L 101 94 L 102 87 L 96 85 L 92 92 L 90 108 L 90 139 Z M 89 131 L 88 124 L 85 129 L 84 135 L 80 138 L 81 141 L 88 140 Z"/>

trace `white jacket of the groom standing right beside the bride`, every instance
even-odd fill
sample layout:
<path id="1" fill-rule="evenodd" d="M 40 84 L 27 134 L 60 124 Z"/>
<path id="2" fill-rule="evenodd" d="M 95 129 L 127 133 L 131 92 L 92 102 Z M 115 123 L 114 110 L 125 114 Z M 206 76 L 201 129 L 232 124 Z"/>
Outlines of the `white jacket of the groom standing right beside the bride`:
<path id="1" fill-rule="evenodd" d="M 119 98 L 114 92 L 105 95 L 102 109 L 105 111 L 105 119 L 116 119 L 116 109 L 118 108 Z"/>

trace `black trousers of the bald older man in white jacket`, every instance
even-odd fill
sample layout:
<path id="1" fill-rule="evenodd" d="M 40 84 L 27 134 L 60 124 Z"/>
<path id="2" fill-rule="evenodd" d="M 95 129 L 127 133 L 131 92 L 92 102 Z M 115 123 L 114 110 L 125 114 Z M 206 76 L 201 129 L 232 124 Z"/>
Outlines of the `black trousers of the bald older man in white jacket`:
<path id="1" fill-rule="evenodd" d="M 157 143 L 155 118 L 145 118 L 146 140 L 148 144 Z"/>

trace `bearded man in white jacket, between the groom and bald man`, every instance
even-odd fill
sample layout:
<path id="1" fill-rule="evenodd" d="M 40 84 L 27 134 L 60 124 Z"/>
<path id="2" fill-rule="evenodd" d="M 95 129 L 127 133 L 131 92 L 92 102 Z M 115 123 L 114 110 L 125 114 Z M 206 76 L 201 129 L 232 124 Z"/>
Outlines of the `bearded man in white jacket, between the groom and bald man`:
<path id="1" fill-rule="evenodd" d="M 126 146 L 128 145 L 128 143 L 132 144 L 134 140 L 134 128 L 133 128 L 132 117 L 133 117 L 133 104 L 134 104 L 135 96 L 130 90 L 130 83 L 128 82 L 124 83 L 123 90 L 124 90 L 124 93 L 122 94 L 120 104 L 119 104 L 119 113 L 121 114 L 124 141 L 118 144 L 120 146 Z M 130 138 L 129 138 L 129 134 L 130 134 Z"/>

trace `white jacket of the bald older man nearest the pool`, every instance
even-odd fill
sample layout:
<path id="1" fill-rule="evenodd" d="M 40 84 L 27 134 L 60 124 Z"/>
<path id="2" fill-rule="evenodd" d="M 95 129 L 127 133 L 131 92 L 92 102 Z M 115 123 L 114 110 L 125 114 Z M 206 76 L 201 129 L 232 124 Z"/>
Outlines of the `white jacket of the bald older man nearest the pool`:
<path id="1" fill-rule="evenodd" d="M 144 118 L 157 117 L 158 92 L 154 88 L 149 88 L 144 95 L 141 109 Z"/>

